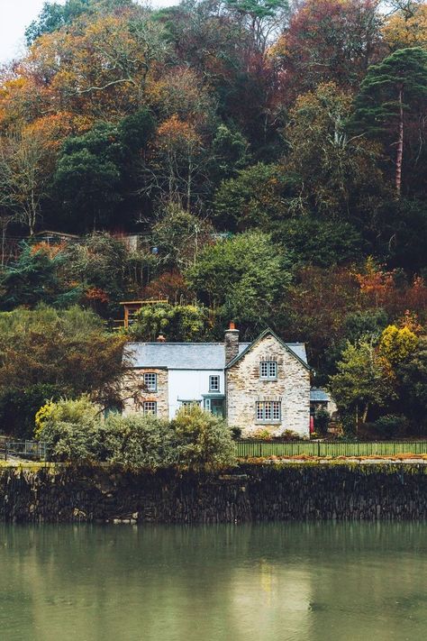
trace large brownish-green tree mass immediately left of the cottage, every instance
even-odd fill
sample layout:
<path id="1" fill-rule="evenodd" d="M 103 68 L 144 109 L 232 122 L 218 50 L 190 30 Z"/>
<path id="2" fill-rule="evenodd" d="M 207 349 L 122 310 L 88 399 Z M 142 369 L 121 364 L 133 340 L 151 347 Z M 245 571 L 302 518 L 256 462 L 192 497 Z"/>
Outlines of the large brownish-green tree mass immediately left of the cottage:
<path id="1" fill-rule="evenodd" d="M 79 307 L 0 314 L 2 428 L 10 429 L 7 402 L 11 395 L 16 399 L 14 425 L 21 422 L 25 430 L 33 424 L 35 411 L 51 397 L 90 392 L 102 404 L 120 398 L 123 343 L 122 337 L 105 332 L 98 316 Z"/>

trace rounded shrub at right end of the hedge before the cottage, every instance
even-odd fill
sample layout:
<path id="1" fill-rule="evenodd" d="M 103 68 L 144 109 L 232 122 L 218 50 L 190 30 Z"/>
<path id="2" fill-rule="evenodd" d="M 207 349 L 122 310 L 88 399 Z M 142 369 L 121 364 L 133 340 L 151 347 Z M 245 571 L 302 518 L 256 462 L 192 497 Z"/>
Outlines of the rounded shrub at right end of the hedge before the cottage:
<path id="1" fill-rule="evenodd" d="M 182 407 L 171 422 L 178 463 L 189 469 L 220 469 L 235 462 L 232 430 L 223 418 L 196 405 Z"/>

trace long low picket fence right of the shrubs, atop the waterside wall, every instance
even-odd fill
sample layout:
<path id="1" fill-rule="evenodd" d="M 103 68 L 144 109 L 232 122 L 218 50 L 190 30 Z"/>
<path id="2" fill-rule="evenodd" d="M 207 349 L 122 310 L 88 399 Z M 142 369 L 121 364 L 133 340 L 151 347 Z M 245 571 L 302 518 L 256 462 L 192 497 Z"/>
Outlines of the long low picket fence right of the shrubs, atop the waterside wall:
<path id="1" fill-rule="evenodd" d="M 427 441 L 366 442 L 341 441 L 237 441 L 239 458 L 264 456 L 395 456 L 398 454 L 427 454 Z"/>

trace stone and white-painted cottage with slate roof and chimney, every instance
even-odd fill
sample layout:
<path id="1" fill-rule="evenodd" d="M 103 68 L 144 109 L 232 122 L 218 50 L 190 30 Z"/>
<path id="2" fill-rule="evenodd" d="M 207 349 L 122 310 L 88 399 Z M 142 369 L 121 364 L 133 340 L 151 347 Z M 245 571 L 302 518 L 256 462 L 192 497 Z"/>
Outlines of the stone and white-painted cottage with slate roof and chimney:
<path id="1" fill-rule="evenodd" d="M 141 393 L 125 401 L 124 414 L 172 418 L 179 407 L 196 403 L 241 427 L 243 435 L 263 429 L 309 436 L 311 368 L 304 343 L 284 343 L 270 329 L 252 343 L 241 343 L 233 324 L 223 343 L 159 338 L 126 346 Z"/>

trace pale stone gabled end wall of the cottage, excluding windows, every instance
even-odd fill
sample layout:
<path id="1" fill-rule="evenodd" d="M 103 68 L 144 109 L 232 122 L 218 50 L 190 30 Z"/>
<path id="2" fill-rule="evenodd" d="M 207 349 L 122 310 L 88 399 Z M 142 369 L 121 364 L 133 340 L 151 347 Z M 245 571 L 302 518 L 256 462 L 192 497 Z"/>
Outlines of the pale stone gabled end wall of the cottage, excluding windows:
<path id="1" fill-rule="evenodd" d="M 277 380 L 259 379 L 261 360 L 277 361 Z M 226 371 L 226 385 L 228 422 L 241 427 L 243 435 L 268 429 L 275 435 L 292 430 L 302 437 L 309 436 L 310 372 L 274 336 L 265 336 Z M 279 425 L 257 423 L 257 400 L 281 401 Z"/>

